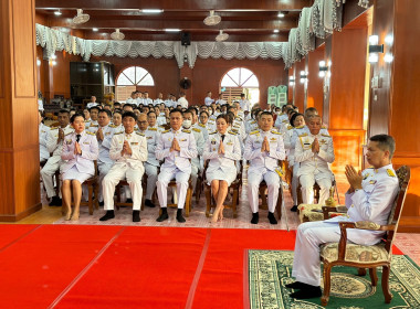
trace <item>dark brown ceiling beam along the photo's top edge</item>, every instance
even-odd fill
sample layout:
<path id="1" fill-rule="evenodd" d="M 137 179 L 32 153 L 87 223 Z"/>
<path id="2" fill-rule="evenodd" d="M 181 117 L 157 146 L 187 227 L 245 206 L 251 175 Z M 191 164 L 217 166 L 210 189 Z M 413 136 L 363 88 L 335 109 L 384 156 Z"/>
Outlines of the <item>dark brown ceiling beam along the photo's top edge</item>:
<path id="1" fill-rule="evenodd" d="M 127 10 L 162 9 L 174 11 L 209 10 L 302 10 L 312 6 L 312 0 L 155 0 L 153 3 L 138 0 L 36 0 L 36 9 L 85 9 L 85 10 Z"/>

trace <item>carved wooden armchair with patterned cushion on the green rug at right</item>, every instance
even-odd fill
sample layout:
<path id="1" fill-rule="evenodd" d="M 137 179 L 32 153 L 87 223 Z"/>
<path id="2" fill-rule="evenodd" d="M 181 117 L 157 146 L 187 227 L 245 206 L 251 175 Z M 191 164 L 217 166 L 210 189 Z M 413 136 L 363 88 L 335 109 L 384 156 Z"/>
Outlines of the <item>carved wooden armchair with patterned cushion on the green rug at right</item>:
<path id="1" fill-rule="evenodd" d="M 364 274 L 369 268 L 371 285 L 377 285 L 376 267 L 382 267 L 382 292 L 385 302 L 389 303 L 392 295 L 389 291 L 389 271 L 392 257 L 392 242 L 398 228 L 398 222 L 406 200 L 407 187 L 410 181 L 410 168 L 401 167 L 397 170 L 400 191 L 393 202 L 387 225 L 378 225 L 374 222 L 340 222 L 339 243 L 328 243 L 321 247 L 321 260 L 324 263 L 324 292 L 321 298 L 323 306 L 327 306 L 330 290 L 330 271 L 334 266 L 351 266 L 359 268 Z M 337 210 L 334 210 L 337 211 Z M 385 231 L 384 241 L 372 246 L 347 244 L 347 228 Z M 366 273 L 365 273 L 366 274 Z"/>

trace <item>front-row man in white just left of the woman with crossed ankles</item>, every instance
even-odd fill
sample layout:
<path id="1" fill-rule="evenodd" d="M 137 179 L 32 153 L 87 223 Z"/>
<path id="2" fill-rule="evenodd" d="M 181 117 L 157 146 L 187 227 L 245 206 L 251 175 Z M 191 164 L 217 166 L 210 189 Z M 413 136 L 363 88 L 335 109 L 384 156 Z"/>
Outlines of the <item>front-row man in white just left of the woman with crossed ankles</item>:
<path id="1" fill-rule="evenodd" d="M 177 182 L 178 211 L 177 221 L 186 222 L 182 216 L 182 210 L 186 202 L 188 181 L 191 174 L 191 159 L 197 157 L 196 139 L 190 130 L 182 130 L 182 111 L 172 109 L 169 114 L 170 129 L 162 131 L 156 147 L 156 158 L 165 160 L 160 167 L 158 177 L 157 193 L 161 214 L 156 220 L 162 222 L 168 216 L 167 211 L 167 191 L 168 183 L 174 178 Z"/>

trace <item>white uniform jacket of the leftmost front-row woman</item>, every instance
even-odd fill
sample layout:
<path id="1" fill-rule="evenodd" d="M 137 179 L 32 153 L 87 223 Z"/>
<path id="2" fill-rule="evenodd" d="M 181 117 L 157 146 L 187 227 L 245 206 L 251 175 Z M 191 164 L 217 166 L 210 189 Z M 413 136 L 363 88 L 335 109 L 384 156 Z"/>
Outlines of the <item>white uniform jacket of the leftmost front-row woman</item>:
<path id="1" fill-rule="evenodd" d="M 92 132 L 81 132 L 78 145 L 81 146 L 82 154 L 74 154 L 75 142 L 75 132 L 64 137 L 61 159 L 69 161 L 63 164 L 62 172 L 65 173 L 71 168 L 76 167 L 77 171 L 82 173 L 95 174 L 95 164 L 93 161 L 97 160 L 99 153 L 96 136 Z"/>

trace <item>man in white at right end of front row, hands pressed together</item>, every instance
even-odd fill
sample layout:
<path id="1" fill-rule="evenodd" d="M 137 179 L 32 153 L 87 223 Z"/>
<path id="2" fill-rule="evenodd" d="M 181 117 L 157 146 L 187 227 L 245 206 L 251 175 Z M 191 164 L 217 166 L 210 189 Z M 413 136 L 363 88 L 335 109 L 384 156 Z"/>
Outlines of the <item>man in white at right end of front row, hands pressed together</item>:
<path id="1" fill-rule="evenodd" d="M 314 203 L 316 181 L 321 188 L 318 204 L 324 205 L 334 178 L 328 167 L 335 159 L 333 138 L 321 132 L 322 120 L 318 115 L 309 118 L 307 127 L 309 134 L 300 136 L 295 145 L 295 162 L 301 163 L 297 177 L 302 187 L 302 200 L 304 204 Z"/>

